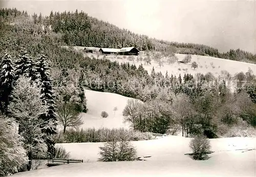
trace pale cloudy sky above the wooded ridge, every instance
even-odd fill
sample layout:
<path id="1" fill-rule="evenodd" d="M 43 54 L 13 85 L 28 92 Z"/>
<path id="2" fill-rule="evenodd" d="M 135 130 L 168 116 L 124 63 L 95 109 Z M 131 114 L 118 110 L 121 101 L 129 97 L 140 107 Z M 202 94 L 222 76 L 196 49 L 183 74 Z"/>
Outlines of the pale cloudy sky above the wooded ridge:
<path id="1" fill-rule="evenodd" d="M 120 28 L 168 41 L 193 42 L 219 49 L 242 49 L 256 54 L 256 1 L 12 1 L 28 13 L 83 10 Z"/>

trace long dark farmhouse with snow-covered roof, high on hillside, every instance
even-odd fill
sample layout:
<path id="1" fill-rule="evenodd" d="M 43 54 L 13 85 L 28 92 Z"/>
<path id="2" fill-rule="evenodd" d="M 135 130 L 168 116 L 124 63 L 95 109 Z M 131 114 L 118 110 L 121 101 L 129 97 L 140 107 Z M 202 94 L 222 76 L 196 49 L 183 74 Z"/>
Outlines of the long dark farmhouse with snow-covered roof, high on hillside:
<path id="1" fill-rule="evenodd" d="M 115 55 L 139 55 L 140 51 L 135 47 L 113 49 L 113 48 L 100 48 L 99 52 L 102 54 L 115 54 Z"/>

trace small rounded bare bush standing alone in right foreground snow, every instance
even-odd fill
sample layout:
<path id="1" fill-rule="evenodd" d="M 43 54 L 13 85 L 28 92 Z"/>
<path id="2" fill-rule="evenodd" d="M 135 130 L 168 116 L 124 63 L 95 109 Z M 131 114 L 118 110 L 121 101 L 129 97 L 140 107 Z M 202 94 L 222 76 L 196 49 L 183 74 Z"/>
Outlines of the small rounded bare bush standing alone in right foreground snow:
<path id="1" fill-rule="evenodd" d="M 202 135 L 196 136 L 189 143 L 189 147 L 193 150 L 194 160 L 207 159 L 207 152 L 210 150 L 210 141 Z"/>

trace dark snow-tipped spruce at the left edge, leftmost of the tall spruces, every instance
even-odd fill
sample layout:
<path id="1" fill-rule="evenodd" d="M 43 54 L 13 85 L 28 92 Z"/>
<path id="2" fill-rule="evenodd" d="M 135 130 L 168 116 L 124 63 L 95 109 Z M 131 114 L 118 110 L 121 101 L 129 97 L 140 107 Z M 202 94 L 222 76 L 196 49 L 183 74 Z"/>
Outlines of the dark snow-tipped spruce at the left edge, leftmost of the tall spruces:
<path id="1" fill-rule="evenodd" d="M 1 56 L 0 62 L 0 108 L 2 113 L 7 113 L 7 106 L 12 92 L 14 81 L 14 68 L 12 58 L 8 52 Z"/>

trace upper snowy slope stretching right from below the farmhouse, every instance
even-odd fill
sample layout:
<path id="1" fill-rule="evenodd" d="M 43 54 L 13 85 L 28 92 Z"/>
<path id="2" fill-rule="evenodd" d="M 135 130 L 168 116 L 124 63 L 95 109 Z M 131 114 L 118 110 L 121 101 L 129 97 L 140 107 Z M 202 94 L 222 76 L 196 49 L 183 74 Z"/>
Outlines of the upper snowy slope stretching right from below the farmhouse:
<path id="1" fill-rule="evenodd" d="M 75 47 L 75 50 L 80 50 L 81 48 Z M 96 55 L 96 54 L 84 54 L 84 56 L 90 56 L 95 58 L 103 58 L 103 55 Z M 175 54 L 178 57 L 178 60 L 181 61 L 186 55 L 184 54 Z M 231 74 L 231 76 L 236 75 L 239 72 L 246 73 L 250 69 L 251 71 L 256 71 L 256 64 L 252 63 L 246 63 L 241 61 L 234 61 L 234 60 L 227 60 L 222 58 L 215 58 L 215 57 L 209 57 L 209 56 L 199 56 L 199 55 L 191 55 L 191 62 L 185 64 L 185 63 L 178 63 L 175 62 L 173 64 L 168 64 L 165 62 L 166 60 L 162 58 L 164 61 L 163 66 L 159 67 L 159 64 L 156 61 L 151 61 L 151 64 L 145 64 L 144 61 L 140 62 L 137 60 L 137 58 L 140 56 L 134 56 L 135 60 L 131 61 L 127 59 L 127 56 L 114 56 L 114 55 L 107 55 L 106 58 L 110 59 L 111 61 L 117 61 L 119 63 L 122 62 L 129 62 L 130 64 L 135 64 L 138 68 L 140 64 L 143 64 L 143 68 L 148 72 L 148 74 L 151 74 L 152 69 L 154 67 L 155 72 L 161 72 L 163 75 L 165 75 L 166 72 L 168 72 L 168 75 L 176 75 L 176 77 L 181 74 L 181 77 L 183 78 L 184 74 L 192 74 L 196 75 L 197 73 L 206 74 L 207 72 L 211 72 L 215 77 L 221 77 L 223 74 L 223 71 L 227 71 Z M 142 58 L 145 56 L 141 55 Z M 191 68 L 192 62 L 197 62 L 198 68 L 195 70 Z M 255 74 L 255 73 L 254 73 Z M 227 86 L 232 90 L 234 90 L 237 86 L 236 80 L 233 80 L 230 83 L 227 83 Z"/>

